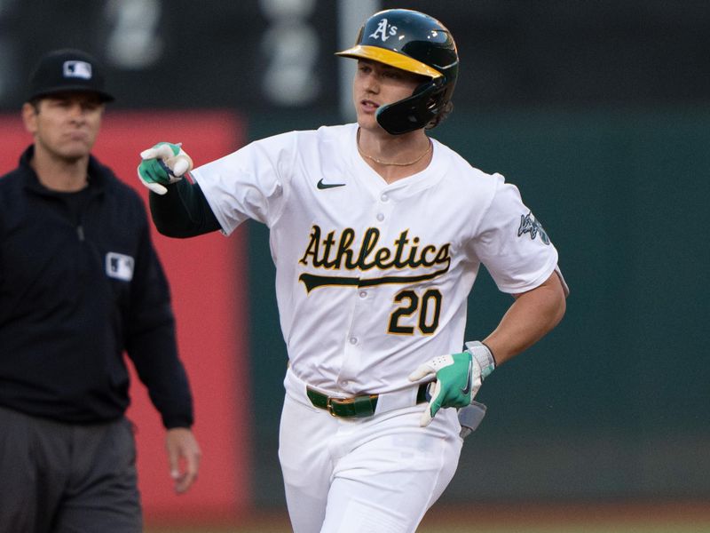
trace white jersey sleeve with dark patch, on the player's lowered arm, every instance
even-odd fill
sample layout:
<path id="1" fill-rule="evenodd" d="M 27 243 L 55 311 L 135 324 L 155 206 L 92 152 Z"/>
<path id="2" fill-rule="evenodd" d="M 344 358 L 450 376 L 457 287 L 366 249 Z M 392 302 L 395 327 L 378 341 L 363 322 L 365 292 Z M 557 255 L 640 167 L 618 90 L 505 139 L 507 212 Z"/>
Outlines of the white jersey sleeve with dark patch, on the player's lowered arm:
<path id="1" fill-rule="evenodd" d="M 557 251 L 517 187 L 500 174 L 475 240 L 477 258 L 502 292 L 517 294 L 545 282 L 557 269 Z"/>

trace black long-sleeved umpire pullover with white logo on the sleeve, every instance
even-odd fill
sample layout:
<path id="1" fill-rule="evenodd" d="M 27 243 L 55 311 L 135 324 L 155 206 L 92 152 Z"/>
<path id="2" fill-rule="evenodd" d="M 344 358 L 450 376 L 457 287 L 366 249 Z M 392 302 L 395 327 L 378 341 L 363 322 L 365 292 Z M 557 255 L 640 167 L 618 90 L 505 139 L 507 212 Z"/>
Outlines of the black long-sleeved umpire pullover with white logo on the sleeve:
<path id="1" fill-rule="evenodd" d="M 79 193 L 29 161 L 0 178 L 0 406 L 91 424 L 129 404 L 127 353 L 163 425 L 189 427 L 170 290 L 138 194 L 91 157 Z"/>

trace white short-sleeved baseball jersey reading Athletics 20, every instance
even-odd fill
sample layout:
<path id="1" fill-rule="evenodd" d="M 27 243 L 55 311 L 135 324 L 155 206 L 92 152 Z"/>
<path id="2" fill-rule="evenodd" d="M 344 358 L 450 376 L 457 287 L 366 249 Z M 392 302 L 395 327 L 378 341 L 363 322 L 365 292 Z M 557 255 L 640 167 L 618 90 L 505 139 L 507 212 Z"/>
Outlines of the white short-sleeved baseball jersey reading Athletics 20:
<path id="1" fill-rule="evenodd" d="M 261 139 L 193 171 L 225 234 L 270 228 L 291 370 L 355 395 L 461 352 L 467 298 L 485 265 L 498 288 L 531 290 L 557 252 L 517 187 L 432 139 L 428 168 L 387 184 L 361 158 L 357 124 Z"/>

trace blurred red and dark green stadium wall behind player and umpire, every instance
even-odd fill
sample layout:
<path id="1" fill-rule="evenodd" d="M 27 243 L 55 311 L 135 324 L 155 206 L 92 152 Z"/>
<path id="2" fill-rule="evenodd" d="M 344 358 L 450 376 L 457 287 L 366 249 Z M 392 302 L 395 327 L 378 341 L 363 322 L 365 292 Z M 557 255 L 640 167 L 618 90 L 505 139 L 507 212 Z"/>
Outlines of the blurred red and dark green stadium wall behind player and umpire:
<path id="1" fill-rule="evenodd" d="M 561 325 L 486 380 L 488 414 L 439 505 L 710 507 L 706 0 L 0 0 L 0 172 L 30 141 L 19 109 L 51 49 L 105 63 L 116 102 L 97 154 L 135 184 L 138 153 L 158 140 L 183 141 L 200 164 L 350 122 L 355 62 L 333 52 L 390 7 L 454 34 L 455 110 L 431 135 L 520 188 L 572 290 Z M 283 513 L 286 354 L 267 231 L 154 239 L 204 461 L 191 494 L 171 494 L 135 384 L 148 521 Z M 466 338 L 509 303 L 482 272 Z"/>

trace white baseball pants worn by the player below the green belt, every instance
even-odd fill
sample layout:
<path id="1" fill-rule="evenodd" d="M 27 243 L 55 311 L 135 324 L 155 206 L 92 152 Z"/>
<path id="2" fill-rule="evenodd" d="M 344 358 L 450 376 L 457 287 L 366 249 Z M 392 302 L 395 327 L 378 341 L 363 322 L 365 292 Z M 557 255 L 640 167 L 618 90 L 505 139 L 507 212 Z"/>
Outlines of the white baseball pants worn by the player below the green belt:
<path id="1" fill-rule="evenodd" d="M 279 458 L 294 533 L 414 532 L 454 477 L 463 442 L 455 410 L 425 428 L 425 403 L 335 418 L 293 376 L 286 387 Z"/>

